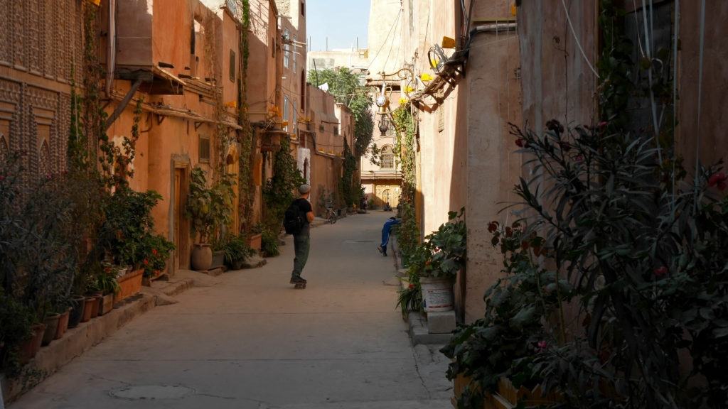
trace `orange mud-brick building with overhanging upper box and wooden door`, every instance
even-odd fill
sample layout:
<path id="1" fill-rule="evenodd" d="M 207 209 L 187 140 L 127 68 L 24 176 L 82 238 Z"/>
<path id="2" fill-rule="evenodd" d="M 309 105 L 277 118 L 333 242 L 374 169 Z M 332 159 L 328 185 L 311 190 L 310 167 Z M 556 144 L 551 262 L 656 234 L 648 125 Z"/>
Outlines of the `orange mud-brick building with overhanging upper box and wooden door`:
<path id="1" fill-rule="evenodd" d="M 152 215 L 178 250 L 170 271 L 189 268 L 184 218 L 194 167 L 236 174 L 242 93 L 240 12 L 234 1 L 101 1 L 100 60 L 106 72 L 107 135 L 128 137 L 141 108 L 130 186 L 162 195 Z M 124 22 L 124 24 L 121 24 Z M 249 137 L 248 137 L 249 138 Z M 240 223 L 234 206 L 234 226 Z"/>

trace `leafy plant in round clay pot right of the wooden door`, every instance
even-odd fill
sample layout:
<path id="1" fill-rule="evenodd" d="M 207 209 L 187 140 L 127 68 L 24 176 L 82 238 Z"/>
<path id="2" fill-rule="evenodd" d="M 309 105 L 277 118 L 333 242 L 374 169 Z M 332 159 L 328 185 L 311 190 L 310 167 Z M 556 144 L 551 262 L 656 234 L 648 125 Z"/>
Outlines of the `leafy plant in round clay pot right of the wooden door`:
<path id="1" fill-rule="evenodd" d="M 221 226 L 230 223 L 234 180 L 230 175 L 221 175 L 213 186 L 207 186 L 205 170 L 194 167 L 191 172 L 189 193 L 185 205 L 185 216 L 191 221 L 192 237 L 197 238 L 192 250 L 192 268 L 198 271 L 210 269 L 213 250 L 210 240 Z"/>

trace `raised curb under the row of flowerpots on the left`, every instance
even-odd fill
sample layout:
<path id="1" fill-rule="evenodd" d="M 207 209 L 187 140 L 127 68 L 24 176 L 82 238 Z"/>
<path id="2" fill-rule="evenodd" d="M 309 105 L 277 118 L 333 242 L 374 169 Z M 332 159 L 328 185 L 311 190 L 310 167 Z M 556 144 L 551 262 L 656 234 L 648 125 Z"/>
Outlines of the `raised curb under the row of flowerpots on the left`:
<path id="1" fill-rule="evenodd" d="M 8 379 L 4 373 L 0 373 L 0 408 L 33 389 L 63 365 L 99 344 L 103 338 L 116 333 L 135 317 L 153 309 L 157 306 L 158 295 L 156 293 L 166 296 L 178 295 L 189 290 L 193 285 L 192 279 L 181 279 L 151 290 L 150 287 L 142 287 L 140 293 L 116 303 L 114 309 L 108 314 L 103 314 L 87 322 L 80 322 L 74 328 L 68 328 L 63 338 L 43 346 L 36 357 L 23 367 L 17 378 Z"/>

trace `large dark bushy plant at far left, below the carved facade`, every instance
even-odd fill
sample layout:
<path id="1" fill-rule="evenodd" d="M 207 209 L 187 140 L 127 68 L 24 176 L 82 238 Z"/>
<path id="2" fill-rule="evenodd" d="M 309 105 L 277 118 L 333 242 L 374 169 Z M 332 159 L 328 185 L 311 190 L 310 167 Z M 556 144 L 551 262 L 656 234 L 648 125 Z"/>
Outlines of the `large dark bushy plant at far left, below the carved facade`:
<path id="1" fill-rule="evenodd" d="M 73 202 L 61 177 L 23 179 L 23 160 L 11 154 L 0 164 L 0 287 L 6 301 L 22 304 L 31 322 L 44 329 L 47 315 L 68 300 L 74 282 L 77 258 L 68 227 Z M 38 334 L 33 347 L 42 341 L 44 334 Z"/>

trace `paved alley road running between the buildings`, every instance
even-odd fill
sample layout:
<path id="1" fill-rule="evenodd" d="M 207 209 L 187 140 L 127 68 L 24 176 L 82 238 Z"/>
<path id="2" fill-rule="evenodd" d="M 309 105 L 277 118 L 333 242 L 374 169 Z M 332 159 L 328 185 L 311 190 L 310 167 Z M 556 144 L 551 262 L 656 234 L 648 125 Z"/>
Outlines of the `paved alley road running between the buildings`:
<path id="1" fill-rule="evenodd" d="M 389 215 L 312 229 L 306 290 L 288 284 L 289 236 L 266 266 L 135 318 L 9 408 L 451 408 L 445 358 L 411 346 L 376 250 Z"/>

